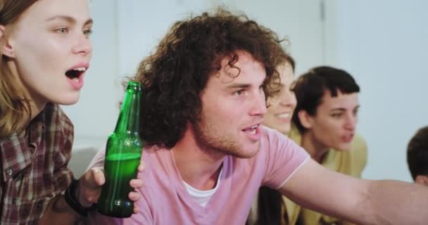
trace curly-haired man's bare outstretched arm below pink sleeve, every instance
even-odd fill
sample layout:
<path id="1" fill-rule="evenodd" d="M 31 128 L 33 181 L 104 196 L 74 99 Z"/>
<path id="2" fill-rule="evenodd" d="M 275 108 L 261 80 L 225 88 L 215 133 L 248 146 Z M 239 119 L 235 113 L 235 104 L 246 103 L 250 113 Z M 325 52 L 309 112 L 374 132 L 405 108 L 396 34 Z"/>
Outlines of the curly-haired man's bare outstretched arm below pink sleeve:
<path id="1" fill-rule="evenodd" d="M 355 179 L 313 160 L 298 169 L 280 191 L 303 207 L 356 224 L 422 225 L 428 221 L 428 188 L 402 181 Z"/>

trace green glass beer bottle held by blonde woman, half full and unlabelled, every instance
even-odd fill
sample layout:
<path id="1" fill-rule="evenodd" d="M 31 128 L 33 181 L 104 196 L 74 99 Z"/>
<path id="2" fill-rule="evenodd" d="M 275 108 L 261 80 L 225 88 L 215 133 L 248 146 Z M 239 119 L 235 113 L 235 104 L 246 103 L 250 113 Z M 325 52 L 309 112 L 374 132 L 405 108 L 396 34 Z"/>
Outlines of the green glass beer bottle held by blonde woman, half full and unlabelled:
<path id="1" fill-rule="evenodd" d="M 142 141 L 139 137 L 141 84 L 128 82 L 115 131 L 108 136 L 103 185 L 98 211 L 110 217 L 130 217 L 134 203 L 128 198 L 130 180 L 137 177 Z"/>

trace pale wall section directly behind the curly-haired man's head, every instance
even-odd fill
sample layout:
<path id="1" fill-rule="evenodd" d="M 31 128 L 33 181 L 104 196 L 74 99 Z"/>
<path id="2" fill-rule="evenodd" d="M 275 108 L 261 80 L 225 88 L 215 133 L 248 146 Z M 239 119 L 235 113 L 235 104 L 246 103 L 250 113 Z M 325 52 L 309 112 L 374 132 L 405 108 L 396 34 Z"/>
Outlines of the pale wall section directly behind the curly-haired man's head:
<path id="1" fill-rule="evenodd" d="M 296 72 L 324 63 L 325 24 L 320 18 L 320 2 L 313 0 L 129 0 L 118 6 L 119 71 L 121 76 L 133 75 L 138 63 L 158 44 L 169 27 L 193 13 L 226 6 L 242 11 L 249 18 L 287 37 L 287 49 L 296 58 Z"/>

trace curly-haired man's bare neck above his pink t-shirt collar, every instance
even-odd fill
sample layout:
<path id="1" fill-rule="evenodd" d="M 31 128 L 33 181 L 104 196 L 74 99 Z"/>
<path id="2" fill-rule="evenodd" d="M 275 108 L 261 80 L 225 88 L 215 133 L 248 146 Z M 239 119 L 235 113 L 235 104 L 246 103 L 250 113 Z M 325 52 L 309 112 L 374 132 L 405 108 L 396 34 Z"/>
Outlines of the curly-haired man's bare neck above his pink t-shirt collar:
<path id="1" fill-rule="evenodd" d="M 199 148 L 189 129 L 171 150 L 183 181 L 201 191 L 215 187 L 224 153 Z"/>

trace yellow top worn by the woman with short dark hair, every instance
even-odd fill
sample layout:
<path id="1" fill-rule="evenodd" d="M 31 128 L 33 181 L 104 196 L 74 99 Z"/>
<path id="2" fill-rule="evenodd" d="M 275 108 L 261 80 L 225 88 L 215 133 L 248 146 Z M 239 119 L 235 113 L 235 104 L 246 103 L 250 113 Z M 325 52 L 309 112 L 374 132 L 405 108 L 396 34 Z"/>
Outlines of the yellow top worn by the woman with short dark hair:
<path id="1" fill-rule="evenodd" d="M 291 127 L 289 133 L 290 139 L 301 145 L 301 134 L 296 127 Z M 322 161 L 322 165 L 327 169 L 332 169 L 342 174 L 348 174 L 355 177 L 360 177 L 361 172 L 365 168 L 367 162 L 367 144 L 362 136 L 356 134 L 351 142 L 350 150 L 328 150 L 326 157 Z M 287 208 L 288 224 L 294 225 L 298 217 L 301 217 L 301 222 L 304 225 L 319 225 L 319 224 L 334 224 L 340 219 L 329 217 L 325 214 L 302 208 L 296 205 L 288 198 L 282 196 L 285 207 Z M 284 214 L 284 207 L 282 209 Z M 284 217 L 283 217 L 284 218 Z M 285 219 L 282 219 L 282 224 L 287 224 Z"/>

